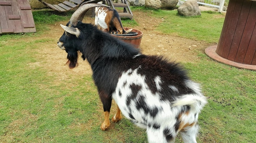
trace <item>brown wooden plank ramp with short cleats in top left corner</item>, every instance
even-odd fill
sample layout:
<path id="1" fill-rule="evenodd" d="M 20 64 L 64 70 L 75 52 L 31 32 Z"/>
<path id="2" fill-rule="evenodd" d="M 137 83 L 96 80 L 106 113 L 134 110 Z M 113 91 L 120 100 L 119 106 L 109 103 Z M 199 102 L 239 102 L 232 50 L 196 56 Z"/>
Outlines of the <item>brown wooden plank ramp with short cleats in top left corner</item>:
<path id="1" fill-rule="evenodd" d="M 29 0 L 0 0 L 0 34 L 36 32 Z"/>

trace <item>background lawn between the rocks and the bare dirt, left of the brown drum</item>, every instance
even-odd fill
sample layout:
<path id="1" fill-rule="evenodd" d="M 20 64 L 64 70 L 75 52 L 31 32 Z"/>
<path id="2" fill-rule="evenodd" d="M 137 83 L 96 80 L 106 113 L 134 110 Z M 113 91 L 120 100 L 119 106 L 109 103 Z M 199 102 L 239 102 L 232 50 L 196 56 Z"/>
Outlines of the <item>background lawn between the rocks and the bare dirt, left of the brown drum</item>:
<path id="1" fill-rule="evenodd" d="M 177 11 L 162 10 L 154 11 L 153 16 L 164 19 L 156 29 L 164 34 L 208 43 L 218 43 L 225 18 L 221 13 L 202 12 L 201 16 L 184 17 L 177 15 Z"/>

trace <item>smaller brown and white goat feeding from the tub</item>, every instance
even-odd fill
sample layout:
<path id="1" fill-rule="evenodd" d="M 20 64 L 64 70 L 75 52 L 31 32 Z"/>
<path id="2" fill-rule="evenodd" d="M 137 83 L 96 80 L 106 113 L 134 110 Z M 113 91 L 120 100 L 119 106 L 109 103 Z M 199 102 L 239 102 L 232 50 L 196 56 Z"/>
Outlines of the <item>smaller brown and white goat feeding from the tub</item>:
<path id="1" fill-rule="evenodd" d="M 103 30 L 108 29 L 109 33 L 113 32 L 114 34 L 127 34 L 132 31 L 132 29 L 124 30 L 117 10 L 110 7 L 95 7 L 95 25 L 100 26 Z"/>

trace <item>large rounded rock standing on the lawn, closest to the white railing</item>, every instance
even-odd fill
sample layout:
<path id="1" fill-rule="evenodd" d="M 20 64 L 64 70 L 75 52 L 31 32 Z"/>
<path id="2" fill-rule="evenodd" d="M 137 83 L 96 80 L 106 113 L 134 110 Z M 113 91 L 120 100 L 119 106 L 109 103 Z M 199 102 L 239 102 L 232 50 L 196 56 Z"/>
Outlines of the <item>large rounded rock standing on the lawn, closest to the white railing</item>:
<path id="1" fill-rule="evenodd" d="M 184 2 L 179 8 L 178 13 L 184 16 L 196 16 L 201 15 L 198 3 L 196 0 L 188 0 Z"/>

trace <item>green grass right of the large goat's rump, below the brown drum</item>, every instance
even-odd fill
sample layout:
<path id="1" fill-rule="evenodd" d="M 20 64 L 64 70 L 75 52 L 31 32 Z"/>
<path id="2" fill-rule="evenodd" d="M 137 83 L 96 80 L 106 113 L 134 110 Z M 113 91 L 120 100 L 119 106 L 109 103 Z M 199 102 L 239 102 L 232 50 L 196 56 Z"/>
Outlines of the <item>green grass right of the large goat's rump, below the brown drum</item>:
<path id="1" fill-rule="evenodd" d="M 205 54 L 199 56 L 199 63 L 184 65 L 208 97 L 199 119 L 200 136 L 217 143 L 253 143 L 256 72 L 217 63 Z"/>

